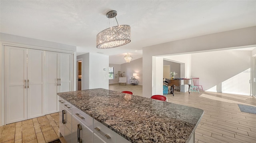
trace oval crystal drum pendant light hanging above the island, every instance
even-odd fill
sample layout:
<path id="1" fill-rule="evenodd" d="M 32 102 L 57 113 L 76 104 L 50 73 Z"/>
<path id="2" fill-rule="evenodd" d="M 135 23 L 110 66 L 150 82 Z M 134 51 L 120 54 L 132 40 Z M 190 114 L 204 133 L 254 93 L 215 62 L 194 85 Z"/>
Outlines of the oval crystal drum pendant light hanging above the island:
<path id="1" fill-rule="evenodd" d="M 112 10 L 106 14 L 107 18 L 115 18 L 117 12 Z M 129 25 L 119 25 L 107 28 L 96 36 L 96 47 L 98 49 L 108 49 L 123 46 L 131 42 L 131 27 Z"/>

